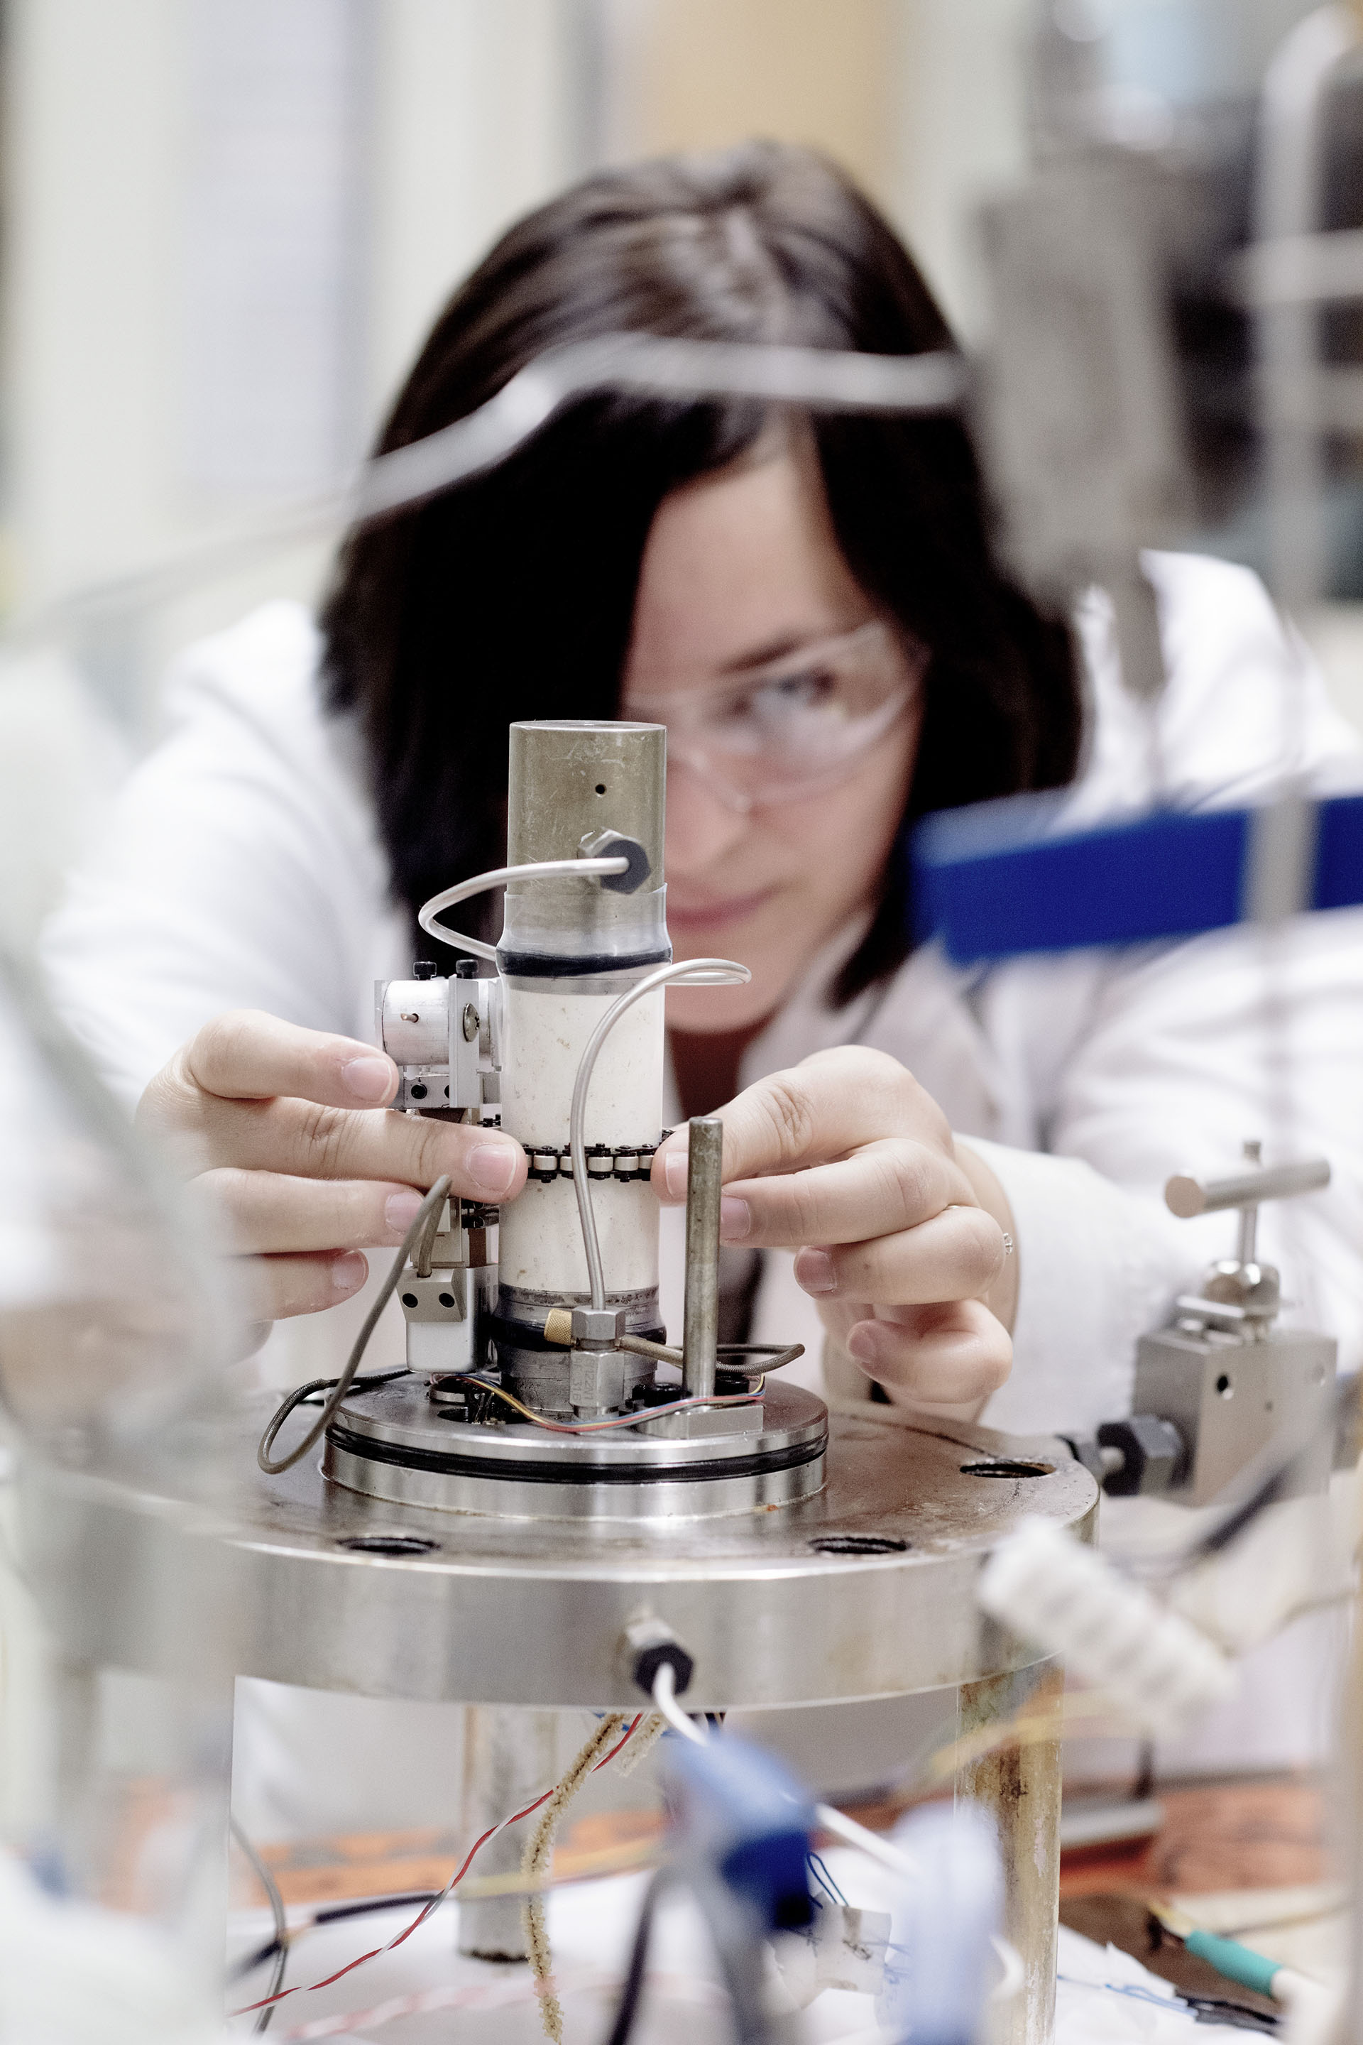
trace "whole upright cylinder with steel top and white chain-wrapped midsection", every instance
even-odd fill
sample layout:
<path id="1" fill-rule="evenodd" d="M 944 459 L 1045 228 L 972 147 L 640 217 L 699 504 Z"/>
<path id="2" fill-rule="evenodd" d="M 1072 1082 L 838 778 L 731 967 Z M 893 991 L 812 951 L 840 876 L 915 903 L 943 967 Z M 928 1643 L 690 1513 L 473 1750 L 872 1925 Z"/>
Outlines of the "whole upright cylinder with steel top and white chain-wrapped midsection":
<path id="1" fill-rule="evenodd" d="M 531 1151 L 531 1182 L 501 1221 L 497 1354 L 519 1395 L 570 1411 L 568 1358 L 542 1339 L 564 1301 L 586 1301 L 586 1260 L 568 1172 L 568 1104 L 578 1061 L 607 1008 L 666 965 L 662 877 L 666 728 L 527 722 L 511 726 L 507 863 L 609 851 L 603 832 L 644 847 L 631 892 L 597 879 L 507 888 L 497 963 L 503 975 L 503 1129 Z M 631 1333 L 662 1335 L 658 1202 L 648 1164 L 662 1135 L 664 994 L 629 1008 L 607 1037 L 586 1100 L 593 1207 L 607 1303 Z M 556 1157 L 552 1170 L 535 1170 Z M 633 1374 L 644 1376 L 646 1364 Z"/>

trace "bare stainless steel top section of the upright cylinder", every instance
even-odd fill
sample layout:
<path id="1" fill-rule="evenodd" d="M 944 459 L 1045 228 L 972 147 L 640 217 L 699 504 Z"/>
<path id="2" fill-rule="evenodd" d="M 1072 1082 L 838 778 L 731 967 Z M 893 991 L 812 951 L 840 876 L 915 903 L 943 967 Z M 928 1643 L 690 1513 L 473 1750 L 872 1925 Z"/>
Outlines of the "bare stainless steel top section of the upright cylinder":
<path id="1" fill-rule="evenodd" d="M 507 885 L 497 963 L 513 978 L 558 980 L 666 965 L 662 832 L 664 724 L 537 720 L 511 726 L 507 865 L 609 853 L 601 832 L 644 847 L 648 879 L 631 892 L 593 877 Z"/>

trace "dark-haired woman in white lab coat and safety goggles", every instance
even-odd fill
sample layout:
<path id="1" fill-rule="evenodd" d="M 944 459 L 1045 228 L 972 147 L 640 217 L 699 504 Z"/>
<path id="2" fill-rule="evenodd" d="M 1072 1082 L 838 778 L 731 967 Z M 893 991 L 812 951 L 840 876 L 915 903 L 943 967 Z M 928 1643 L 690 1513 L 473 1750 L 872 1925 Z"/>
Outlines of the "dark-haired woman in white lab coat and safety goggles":
<path id="1" fill-rule="evenodd" d="M 380 448 L 619 329 L 950 346 L 830 164 L 748 145 L 591 178 L 513 227 Z M 1247 571 L 1148 569 L 1181 798 L 1263 785 L 1291 687 L 1306 769 L 1351 757 Z M 194 648 L 51 930 L 69 1018 L 227 1215 L 262 1319 L 351 1294 L 439 1172 L 519 1194 L 509 1137 L 374 1112 L 396 1072 L 366 1041 L 370 988 L 409 973 L 427 896 L 503 861 L 507 724 L 621 714 L 668 726 L 676 955 L 752 967 L 668 1002 L 676 1117 L 727 1104 L 732 1337 L 803 1333 L 817 1368 L 817 1303 L 844 1391 L 1032 1432 L 1126 1411 L 1136 1337 L 1226 1249 L 1224 1217 L 1175 1223 L 1159 1186 L 1265 1133 L 1285 1041 L 1294 1143 L 1334 1186 L 1289 1237 L 1269 1215 L 1267 1249 L 1279 1229 L 1304 1315 L 1357 1358 L 1357 920 L 1294 933 L 1271 988 L 1240 937 L 987 971 L 911 949 L 911 818 L 1079 771 L 1079 816 L 1144 796 L 1103 597 L 1067 622 L 1007 581 L 954 419 L 617 395 L 351 534 L 319 624 L 276 603 Z M 683 1198 L 685 1137 L 654 1186 Z"/>

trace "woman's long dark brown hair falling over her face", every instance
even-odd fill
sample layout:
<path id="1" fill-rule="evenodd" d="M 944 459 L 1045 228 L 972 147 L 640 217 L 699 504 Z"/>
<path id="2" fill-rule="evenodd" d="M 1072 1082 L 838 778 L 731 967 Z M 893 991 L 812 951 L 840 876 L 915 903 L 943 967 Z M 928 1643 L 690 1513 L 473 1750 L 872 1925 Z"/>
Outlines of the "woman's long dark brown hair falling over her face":
<path id="1" fill-rule="evenodd" d="M 470 413 L 544 348 L 623 329 L 952 346 L 903 245 L 834 164 L 746 143 L 589 178 L 503 235 L 435 321 L 378 448 Z M 345 540 L 323 614 L 329 703 L 360 720 L 413 916 L 503 863 L 513 718 L 615 716 L 658 503 L 762 427 L 750 401 L 589 399 L 501 468 Z M 905 824 L 1069 781 L 1071 634 L 993 560 L 960 421 L 817 417 L 811 431 L 852 573 L 932 654 Z M 907 922 L 893 861 L 840 998 L 905 957 Z"/>

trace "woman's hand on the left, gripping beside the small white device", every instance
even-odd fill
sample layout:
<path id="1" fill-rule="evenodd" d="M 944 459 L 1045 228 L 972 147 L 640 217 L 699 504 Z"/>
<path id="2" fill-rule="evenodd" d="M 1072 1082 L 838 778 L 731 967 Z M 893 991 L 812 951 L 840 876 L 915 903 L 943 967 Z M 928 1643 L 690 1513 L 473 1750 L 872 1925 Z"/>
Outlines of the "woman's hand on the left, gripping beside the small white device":
<path id="1" fill-rule="evenodd" d="M 249 1260 L 257 1321 L 358 1292 L 364 1249 L 396 1249 L 441 1172 L 507 1200 L 525 1151 L 499 1129 L 388 1115 L 398 1070 L 374 1045 L 239 1008 L 204 1022 L 147 1086 L 137 1123 Z"/>

